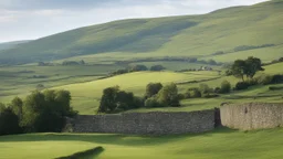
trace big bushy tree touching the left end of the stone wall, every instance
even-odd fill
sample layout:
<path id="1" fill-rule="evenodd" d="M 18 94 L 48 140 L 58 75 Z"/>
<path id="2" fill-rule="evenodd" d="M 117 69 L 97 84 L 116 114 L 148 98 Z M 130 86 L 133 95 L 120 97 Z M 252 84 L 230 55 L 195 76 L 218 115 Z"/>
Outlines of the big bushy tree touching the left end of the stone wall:
<path id="1" fill-rule="evenodd" d="M 70 102 L 71 94 L 67 91 L 35 91 L 24 100 L 21 125 L 27 131 L 59 132 L 65 124 L 65 117 L 76 114 Z"/>

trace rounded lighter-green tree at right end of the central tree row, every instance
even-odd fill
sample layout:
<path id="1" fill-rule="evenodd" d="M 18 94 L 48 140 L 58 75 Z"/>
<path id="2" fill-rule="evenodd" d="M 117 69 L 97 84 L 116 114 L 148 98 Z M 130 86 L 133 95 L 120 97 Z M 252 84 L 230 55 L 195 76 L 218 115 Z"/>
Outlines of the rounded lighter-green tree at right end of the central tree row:
<path id="1" fill-rule="evenodd" d="M 177 85 L 171 83 L 157 94 L 157 102 L 165 106 L 180 106 Z"/>

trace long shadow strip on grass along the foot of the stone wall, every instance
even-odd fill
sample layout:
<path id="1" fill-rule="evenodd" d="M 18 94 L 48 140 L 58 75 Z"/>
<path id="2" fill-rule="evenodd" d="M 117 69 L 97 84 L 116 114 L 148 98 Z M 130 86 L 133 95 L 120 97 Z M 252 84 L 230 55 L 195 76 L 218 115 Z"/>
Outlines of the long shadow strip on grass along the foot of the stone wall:
<path id="1" fill-rule="evenodd" d="M 229 128 L 217 128 L 213 131 L 187 135 L 166 135 L 166 136 L 138 136 L 118 134 L 28 134 L 17 136 L 0 137 L 0 141 L 85 141 L 92 144 L 111 144 L 122 146 L 155 146 L 184 140 L 199 136 L 213 136 L 218 134 L 230 134 L 238 130 Z"/>

